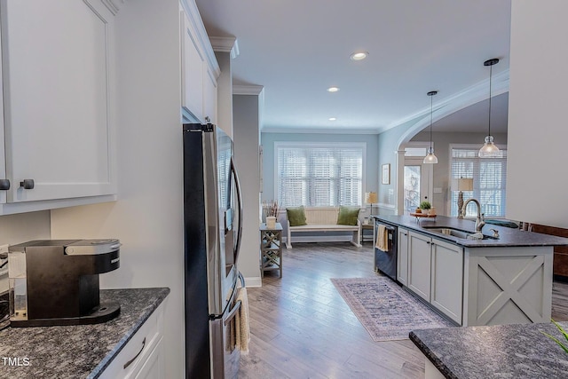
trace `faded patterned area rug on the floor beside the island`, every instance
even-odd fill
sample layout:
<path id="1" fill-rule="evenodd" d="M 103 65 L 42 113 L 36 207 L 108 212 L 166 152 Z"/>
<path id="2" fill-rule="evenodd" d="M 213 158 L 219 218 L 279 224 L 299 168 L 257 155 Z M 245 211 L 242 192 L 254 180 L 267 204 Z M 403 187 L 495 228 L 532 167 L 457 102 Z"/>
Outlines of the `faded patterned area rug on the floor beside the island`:
<path id="1" fill-rule="evenodd" d="M 331 281 L 375 342 L 408 339 L 414 329 L 454 326 L 388 278 Z"/>

